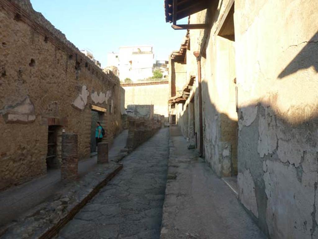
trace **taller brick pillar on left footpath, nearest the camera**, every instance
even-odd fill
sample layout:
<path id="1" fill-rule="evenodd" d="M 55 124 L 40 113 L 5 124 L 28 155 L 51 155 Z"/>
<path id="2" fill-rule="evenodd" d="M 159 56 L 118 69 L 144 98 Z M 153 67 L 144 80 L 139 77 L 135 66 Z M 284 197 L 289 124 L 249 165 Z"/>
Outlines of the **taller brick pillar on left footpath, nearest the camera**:
<path id="1" fill-rule="evenodd" d="M 61 179 L 74 180 L 78 175 L 77 134 L 62 134 Z"/>

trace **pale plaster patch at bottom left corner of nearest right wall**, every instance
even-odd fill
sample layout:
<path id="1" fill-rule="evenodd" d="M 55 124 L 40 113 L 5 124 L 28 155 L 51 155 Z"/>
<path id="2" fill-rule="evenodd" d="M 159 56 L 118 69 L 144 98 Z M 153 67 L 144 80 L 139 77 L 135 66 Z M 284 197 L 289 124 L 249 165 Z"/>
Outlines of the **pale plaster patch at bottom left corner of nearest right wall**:
<path id="1" fill-rule="evenodd" d="M 258 218 L 255 184 L 250 170 L 238 174 L 239 199 Z"/>

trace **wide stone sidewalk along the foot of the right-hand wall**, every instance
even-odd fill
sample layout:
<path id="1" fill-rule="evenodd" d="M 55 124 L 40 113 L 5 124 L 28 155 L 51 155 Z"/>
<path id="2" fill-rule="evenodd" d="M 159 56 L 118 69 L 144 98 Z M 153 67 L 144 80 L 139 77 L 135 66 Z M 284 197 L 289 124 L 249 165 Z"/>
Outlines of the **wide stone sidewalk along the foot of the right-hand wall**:
<path id="1" fill-rule="evenodd" d="M 236 194 L 171 127 L 161 239 L 265 239 Z"/>

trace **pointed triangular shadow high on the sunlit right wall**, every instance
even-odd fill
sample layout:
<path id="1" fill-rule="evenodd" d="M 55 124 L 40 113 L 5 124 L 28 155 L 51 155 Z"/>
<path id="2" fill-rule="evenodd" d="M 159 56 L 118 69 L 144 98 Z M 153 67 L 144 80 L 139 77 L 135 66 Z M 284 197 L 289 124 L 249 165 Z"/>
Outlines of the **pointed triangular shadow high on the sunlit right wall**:
<path id="1" fill-rule="evenodd" d="M 301 42 L 299 45 L 307 43 L 288 66 L 279 74 L 278 78 L 282 79 L 287 75 L 293 74 L 300 69 L 314 67 L 318 73 L 318 32 L 309 40 Z M 289 47 L 297 47 L 292 45 Z"/>

